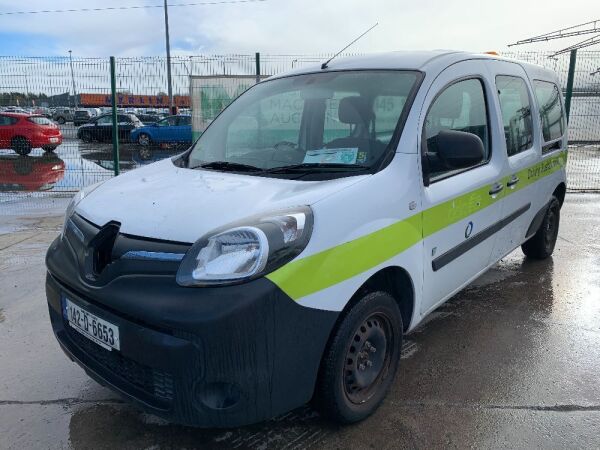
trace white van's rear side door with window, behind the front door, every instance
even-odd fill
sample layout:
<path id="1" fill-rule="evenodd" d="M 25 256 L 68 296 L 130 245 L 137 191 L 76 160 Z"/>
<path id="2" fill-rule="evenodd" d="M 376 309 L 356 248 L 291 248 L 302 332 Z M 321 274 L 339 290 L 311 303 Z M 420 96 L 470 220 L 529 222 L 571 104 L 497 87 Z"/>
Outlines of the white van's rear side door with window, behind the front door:
<path id="1" fill-rule="evenodd" d="M 487 64 L 496 85 L 492 102 L 501 113 L 498 126 L 504 134 L 504 145 L 499 150 L 508 156 L 502 170 L 505 225 L 492 252 L 492 262 L 496 262 L 525 240 L 529 224 L 543 206 L 539 183 L 528 174 L 540 161 L 541 146 L 539 122 L 533 120 L 534 114 L 537 117 L 537 108 L 525 70 L 507 61 L 488 61 Z"/>

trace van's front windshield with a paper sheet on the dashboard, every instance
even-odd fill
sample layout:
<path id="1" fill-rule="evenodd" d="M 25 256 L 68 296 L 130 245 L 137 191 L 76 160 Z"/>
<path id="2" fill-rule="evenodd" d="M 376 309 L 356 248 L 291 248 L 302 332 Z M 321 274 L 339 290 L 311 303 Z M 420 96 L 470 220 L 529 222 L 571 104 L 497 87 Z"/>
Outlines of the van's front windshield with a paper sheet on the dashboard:
<path id="1" fill-rule="evenodd" d="M 371 170 L 387 154 L 419 79 L 414 71 L 346 71 L 257 84 L 210 124 L 185 164 L 263 176 L 327 174 L 321 179 Z"/>

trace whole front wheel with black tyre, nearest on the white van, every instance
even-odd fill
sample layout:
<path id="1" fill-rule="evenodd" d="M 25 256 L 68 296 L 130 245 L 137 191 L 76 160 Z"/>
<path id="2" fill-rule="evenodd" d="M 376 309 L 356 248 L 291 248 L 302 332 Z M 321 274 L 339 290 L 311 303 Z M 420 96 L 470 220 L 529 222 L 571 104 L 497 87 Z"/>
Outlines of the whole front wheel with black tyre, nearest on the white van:
<path id="1" fill-rule="evenodd" d="M 372 292 L 345 312 L 321 361 L 317 408 L 339 423 L 371 415 L 394 380 L 402 348 L 402 316 L 385 292 Z"/>

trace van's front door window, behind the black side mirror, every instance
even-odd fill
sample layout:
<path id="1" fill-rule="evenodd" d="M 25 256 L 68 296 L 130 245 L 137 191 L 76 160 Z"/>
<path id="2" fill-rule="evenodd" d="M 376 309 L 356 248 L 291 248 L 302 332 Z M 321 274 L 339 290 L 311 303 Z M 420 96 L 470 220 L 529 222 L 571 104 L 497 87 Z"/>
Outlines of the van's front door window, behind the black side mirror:
<path id="1" fill-rule="evenodd" d="M 472 133 L 483 142 L 484 162 L 490 159 L 490 139 L 485 94 L 476 78 L 458 81 L 443 90 L 435 99 L 423 128 L 426 157 L 431 181 L 461 172 L 445 167 L 437 156 L 440 131 L 455 130 Z"/>

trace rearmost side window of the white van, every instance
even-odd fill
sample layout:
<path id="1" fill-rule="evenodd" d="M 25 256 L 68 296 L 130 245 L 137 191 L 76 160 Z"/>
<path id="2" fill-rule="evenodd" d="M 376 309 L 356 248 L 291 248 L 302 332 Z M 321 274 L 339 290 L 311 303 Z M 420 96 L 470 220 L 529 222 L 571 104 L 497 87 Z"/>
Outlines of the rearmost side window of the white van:
<path id="1" fill-rule="evenodd" d="M 540 110 L 544 142 L 559 139 L 565 132 L 565 119 L 558 87 L 554 83 L 534 80 L 533 89 Z"/>

